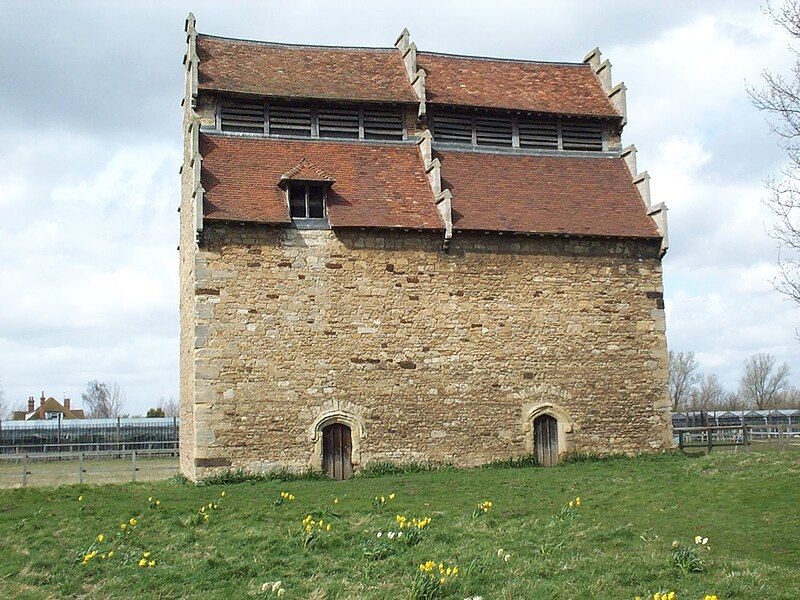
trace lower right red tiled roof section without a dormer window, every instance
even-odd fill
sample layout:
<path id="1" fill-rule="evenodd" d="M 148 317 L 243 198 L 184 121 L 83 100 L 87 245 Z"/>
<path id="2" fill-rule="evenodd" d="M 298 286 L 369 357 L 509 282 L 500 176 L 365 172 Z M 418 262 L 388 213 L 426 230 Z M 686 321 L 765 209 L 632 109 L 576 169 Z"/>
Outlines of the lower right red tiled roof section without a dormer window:
<path id="1" fill-rule="evenodd" d="M 436 155 L 455 230 L 660 237 L 622 159 Z"/>

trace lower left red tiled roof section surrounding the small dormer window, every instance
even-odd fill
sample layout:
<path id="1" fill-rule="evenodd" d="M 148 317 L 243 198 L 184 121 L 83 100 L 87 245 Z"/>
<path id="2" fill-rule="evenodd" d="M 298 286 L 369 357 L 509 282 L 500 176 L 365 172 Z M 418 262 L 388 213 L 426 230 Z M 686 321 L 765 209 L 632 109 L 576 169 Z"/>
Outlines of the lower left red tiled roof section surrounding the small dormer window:
<path id="1" fill-rule="evenodd" d="M 413 144 L 276 140 L 200 134 L 206 219 L 288 224 L 282 173 L 305 159 L 336 179 L 333 227 L 444 229 Z"/>

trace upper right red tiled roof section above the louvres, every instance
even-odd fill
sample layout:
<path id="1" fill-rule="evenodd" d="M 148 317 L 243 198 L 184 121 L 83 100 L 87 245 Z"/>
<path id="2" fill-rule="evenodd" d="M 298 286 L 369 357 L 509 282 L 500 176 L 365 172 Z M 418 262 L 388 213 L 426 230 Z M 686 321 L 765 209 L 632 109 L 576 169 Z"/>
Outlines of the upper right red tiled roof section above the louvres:
<path id="1" fill-rule="evenodd" d="M 620 117 L 588 65 L 417 53 L 430 104 Z"/>

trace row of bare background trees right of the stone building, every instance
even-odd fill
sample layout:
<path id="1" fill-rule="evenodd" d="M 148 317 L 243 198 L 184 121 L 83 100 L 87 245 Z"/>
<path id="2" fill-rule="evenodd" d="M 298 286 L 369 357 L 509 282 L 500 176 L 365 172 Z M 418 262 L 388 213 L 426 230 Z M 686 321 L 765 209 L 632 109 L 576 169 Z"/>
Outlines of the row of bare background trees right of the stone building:
<path id="1" fill-rule="evenodd" d="M 800 408 L 800 390 L 789 383 L 789 365 L 772 354 L 753 354 L 735 390 L 726 389 L 714 373 L 702 373 L 694 352 L 669 353 L 672 412 Z"/>

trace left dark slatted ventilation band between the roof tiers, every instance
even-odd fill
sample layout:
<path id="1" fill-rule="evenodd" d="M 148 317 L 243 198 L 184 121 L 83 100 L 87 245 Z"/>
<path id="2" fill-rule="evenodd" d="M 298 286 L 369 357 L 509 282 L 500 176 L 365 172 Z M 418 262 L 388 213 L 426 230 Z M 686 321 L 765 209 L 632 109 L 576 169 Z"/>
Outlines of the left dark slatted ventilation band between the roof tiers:
<path id="1" fill-rule="evenodd" d="M 402 141 L 405 123 L 398 106 L 298 106 L 224 99 L 222 131 L 294 137 Z"/>

